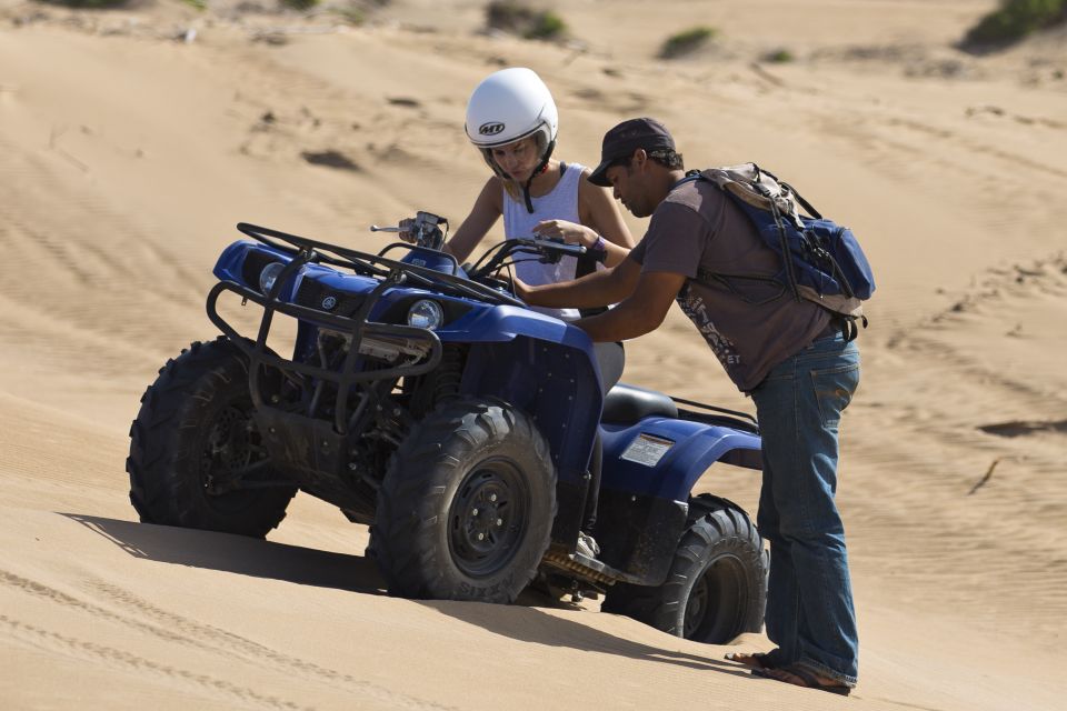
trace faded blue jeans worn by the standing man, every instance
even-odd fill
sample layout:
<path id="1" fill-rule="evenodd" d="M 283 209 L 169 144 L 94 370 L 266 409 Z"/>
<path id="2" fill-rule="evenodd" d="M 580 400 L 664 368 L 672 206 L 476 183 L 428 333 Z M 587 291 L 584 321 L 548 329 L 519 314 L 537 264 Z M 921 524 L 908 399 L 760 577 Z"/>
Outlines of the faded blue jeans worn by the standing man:
<path id="1" fill-rule="evenodd" d="M 770 541 L 767 635 L 775 661 L 852 685 L 859 640 L 845 528 L 834 503 L 837 431 L 859 384 L 859 350 L 822 338 L 775 367 L 752 400 L 762 435 L 757 524 Z"/>

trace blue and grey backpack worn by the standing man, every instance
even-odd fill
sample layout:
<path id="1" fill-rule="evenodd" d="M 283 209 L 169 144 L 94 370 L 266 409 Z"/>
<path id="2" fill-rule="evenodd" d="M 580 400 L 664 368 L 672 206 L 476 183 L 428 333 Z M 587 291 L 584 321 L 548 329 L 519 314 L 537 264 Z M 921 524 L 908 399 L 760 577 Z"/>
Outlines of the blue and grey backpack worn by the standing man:
<path id="1" fill-rule="evenodd" d="M 875 291 L 875 276 L 852 231 L 824 218 L 786 182 L 756 163 L 690 171 L 694 180 L 708 180 L 748 216 L 760 238 L 782 259 L 774 277 L 725 274 L 700 270 L 698 281 L 717 281 L 732 289 L 729 280 L 772 281 L 798 301 L 807 299 L 841 321 L 846 340 L 858 333 L 856 321 L 867 328 L 862 301 Z M 797 204 L 807 213 L 801 214 Z"/>

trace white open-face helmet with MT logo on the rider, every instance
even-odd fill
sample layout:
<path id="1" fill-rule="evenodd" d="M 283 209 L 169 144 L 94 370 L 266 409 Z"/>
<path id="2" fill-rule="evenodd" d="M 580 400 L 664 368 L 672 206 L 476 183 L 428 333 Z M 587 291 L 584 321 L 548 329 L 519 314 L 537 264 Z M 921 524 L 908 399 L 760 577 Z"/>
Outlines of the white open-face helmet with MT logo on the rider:
<path id="1" fill-rule="evenodd" d="M 559 112 L 548 87 L 532 70 L 512 67 L 481 80 L 467 101 L 467 138 L 486 162 L 502 174 L 491 149 L 534 136 L 542 167 L 556 146 Z"/>

